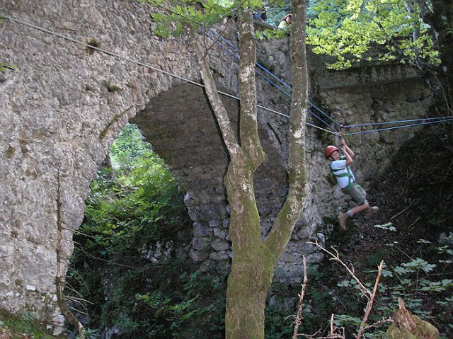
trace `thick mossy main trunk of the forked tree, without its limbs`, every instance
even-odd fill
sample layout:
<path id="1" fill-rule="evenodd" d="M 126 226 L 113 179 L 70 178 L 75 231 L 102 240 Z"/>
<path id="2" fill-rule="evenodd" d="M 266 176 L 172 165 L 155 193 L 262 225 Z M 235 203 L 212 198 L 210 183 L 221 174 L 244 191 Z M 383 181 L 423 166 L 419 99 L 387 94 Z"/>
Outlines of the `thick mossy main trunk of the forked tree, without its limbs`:
<path id="1" fill-rule="evenodd" d="M 275 263 L 263 251 L 253 174 L 243 171 L 250 168 L 250 163 L 244 164 L 241 156 L 236 158 L 239 159 L 231 159 L 225 180 L 231 205 L 229 234 L 233 243 L 226 289 L 226 338 L 264 338 L 265 300 Z M 248 173 L 244 175 L 244 172 Z"/>

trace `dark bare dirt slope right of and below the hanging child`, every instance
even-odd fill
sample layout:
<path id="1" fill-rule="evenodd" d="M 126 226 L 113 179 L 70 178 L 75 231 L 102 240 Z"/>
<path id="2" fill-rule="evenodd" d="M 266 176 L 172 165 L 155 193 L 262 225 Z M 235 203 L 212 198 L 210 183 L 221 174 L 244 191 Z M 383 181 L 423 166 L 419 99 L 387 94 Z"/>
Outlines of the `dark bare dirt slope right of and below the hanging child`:
<path id="1" fill-rule="evenodd" d="M 337 226 L 327 246 L 337 248 L 342 258 L 354 265 L 357 276 L 367 281 L 370 275 L 366 277 L 366 272 L 376 270 L 381 260 L 391 268 L 415 258 L 438 264 L 435 270 L 426 275 L 421 272 L 418 278 L 453 279 L 452 264 L 439 264 L 445 255 L 437 255 L 436 250 L 447 244 L 442 242 L 445 234 L 453 232 L 453 146 L 447 134 L 438 126 L 418 132 L 394 154 L 391 166 L 382 178 L 374 180 L 368 193 L 369 202 L 378 205 L 379 212 L 348 220 L 346 231 L 340 231 Z M 394 231 L 375 226 L 384 224 L 394 227 Z M 453 250 L 451 240 L 449 248 Z M 348 275 L 339 265 L 325 261 L 321 270 L 330 281 L 325 280 L 323 288 L 342 296 L 345 289 L 336 284 Z M 442 294 L 421 292 L 417 296 L 423 300 L 423 309 L 432 311 L 430 321 L 445 338 L 453 338 L 452 294 L 450 287 Z M 449 306 L 439 305 L 437 301 L 446 301 Z M 331 311 L 345 314 L 348 305 Z"/>

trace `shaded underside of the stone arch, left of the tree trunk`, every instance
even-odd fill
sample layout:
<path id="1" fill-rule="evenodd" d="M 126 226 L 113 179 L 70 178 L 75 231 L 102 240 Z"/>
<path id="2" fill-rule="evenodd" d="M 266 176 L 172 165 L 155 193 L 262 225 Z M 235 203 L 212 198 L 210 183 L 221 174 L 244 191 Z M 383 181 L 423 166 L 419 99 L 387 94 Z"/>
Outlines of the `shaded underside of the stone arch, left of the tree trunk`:
<path id="1" fill-rule="evenodd" d="M 222 100 L 236 124 L 237 100 Z M 227 260 L 230 246 L 223 176 L 228 156 L 203 88 L 173 86 L 149 100 L 130 122 L 139 127 L 185 190 L 194 227 L 190 258 L 195 263 Z"/>

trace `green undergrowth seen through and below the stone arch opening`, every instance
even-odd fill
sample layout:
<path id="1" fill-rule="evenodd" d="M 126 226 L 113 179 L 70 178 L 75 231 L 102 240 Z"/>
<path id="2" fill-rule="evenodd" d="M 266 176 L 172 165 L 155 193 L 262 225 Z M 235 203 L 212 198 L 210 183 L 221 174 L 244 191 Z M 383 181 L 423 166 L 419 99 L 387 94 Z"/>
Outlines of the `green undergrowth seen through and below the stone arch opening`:
<path id="1" fill-rule="evenodd" d="M 222 338 L 226 277 L 174 251 L 188 246 L 190 218 L 170 171 L 135 125 L 110 158 L 91 183 L 67 280 L 93 303 L 91 337 L 115 326 L 121 338 Z"/>

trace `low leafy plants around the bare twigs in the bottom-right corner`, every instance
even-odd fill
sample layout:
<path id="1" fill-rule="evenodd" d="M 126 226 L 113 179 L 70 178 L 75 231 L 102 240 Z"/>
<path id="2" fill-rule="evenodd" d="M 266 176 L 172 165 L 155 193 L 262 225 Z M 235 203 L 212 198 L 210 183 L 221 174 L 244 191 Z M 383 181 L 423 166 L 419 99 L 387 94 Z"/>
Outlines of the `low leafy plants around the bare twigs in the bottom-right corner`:
<path id="1" fill-rule="evenodd" d="M 394 234 L 388 227 L 386 231 Z M 374 287 L 377 265 L 383 259 L 386 262 L 367 325 L 382 321 L 383 318 L 391 318 L 398 308 L 398 297 L 401 297 L 409 311 L 430 321 L 441 334 L 451 338 L 453 248 L 450 240 L 448 237 L 442 238 L 442 246 L 425 239 L 414 241 L 418 255 L 404 253 L 398 247 L 401 244 L 396 241 L 383 243 L 377 251 L 369 251 L 366 256 L 360 255 L 360 263 L 353 263 L 355 275 L 370 291 Z M 340 257 L 343 262 L 348 262 L 346 255 Z M 334 314 L 336 326 L 343 326 L 346 338 L 353 338 L 367 304 L 367 298 L 358 289 L 356 280 L 345 275 L 342 267 L 335 263 L 332 265 L 331 260 L 326 260 L 319 270 L 309 272 L 308 279 L 304 296 L 304 318 L 299 333 L 311 335 L 321 331 L 319 336 L 326 335 L 331 314 Z M 298 292 L 294 292 L 294 295 L 296 293 Z M 387 338 L 387 327 L 389 323 L 384 322 L 377 327 L 372 326 L 366 331 L 365 338 Z"/>

